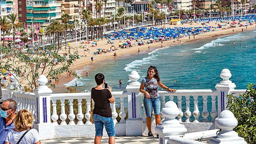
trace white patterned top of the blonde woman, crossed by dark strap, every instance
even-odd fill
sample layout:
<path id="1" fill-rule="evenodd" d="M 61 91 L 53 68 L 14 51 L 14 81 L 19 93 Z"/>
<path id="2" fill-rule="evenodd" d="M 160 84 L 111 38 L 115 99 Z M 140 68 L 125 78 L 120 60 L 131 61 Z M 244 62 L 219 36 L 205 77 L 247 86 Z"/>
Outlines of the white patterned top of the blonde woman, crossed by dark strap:
<path id="1" fill-rule="evenodd" d="M 5 141 L 10 144 L 16 144 L 25 132 L 26 131 L 11 130 L 8 132 Z M 25 134 L 25 136 L 22 138 L 19 144 L 34 144 L 37 143 L 38 141 L 40 141 L 38 131 L 36 129 L 31 129 L 29 132 Z"/>

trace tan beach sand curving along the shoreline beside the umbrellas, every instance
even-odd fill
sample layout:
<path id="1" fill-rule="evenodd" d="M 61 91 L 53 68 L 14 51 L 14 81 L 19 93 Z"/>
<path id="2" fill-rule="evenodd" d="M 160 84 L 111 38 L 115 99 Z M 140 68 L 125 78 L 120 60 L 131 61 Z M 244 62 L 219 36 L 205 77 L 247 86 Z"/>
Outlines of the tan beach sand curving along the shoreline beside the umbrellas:
<path id="1" fill-rule="evenodd" d="M 220 22 L 217 22 L 217 24 L 225 24 L 225 23 L 220 23 Z M 217 24 L 216 22 L 210 22 L 210 23 L 207 23 L 208 26 L 214 26 L 214 27 L 217 27 Z M 211 32 L 207 32 L 207 33 L 201 33 L 199 35 L 195 35 L 195 40 L 198 41 L 198 40 L 201 40 L 201 39 L 214 39 L 213 38 L 213 35 L 215 34 L 215 39 L 217 39 L 218 37 L 220 36 L 223 36 L 223 35 L 229 35 L 229 34 L 234 34 L 234 33 L 241 33 L 242 32 L 242 28 L 243 28 L 243 31 L 248 31 L 248 30 L 252 30 L 252 29 L 255 29 L 255 24 L 251 25 L 251 26 L 247 26 L 247 29 L 245 26 L 242 26 L 242 27 L 238 27 L 238 24 L 237 24 L 237 27 L 236 28 L 229 28 L 227 29 L 227 27 L 229 27 L 230 24 L 228 24 L 227 26 L 224 26 L 224 28 L 226 29 L 219 29 L 217 28 L 217 31 L 211 31 Z M 164 26 L 164 25 L 162 25 Z M 157 26 L 157 27 L 162 27 L 162 26 Z M 150 26 L 151 27 L 151 26 Z M 183 25 L 165 25 L 165 27 L 203 27 L 202 24 L 200 23 L 193 23 L 192 25 L 191 24 L 183 24 Z M 147 27 L 148 28 L 148 27 Z M 234 32 L 232 31 L 234 29 Z M 193 36 L 190 36 L 190 40 L 189 40 L 189 37 L 183 37 L 183 38 L 180 38 L 181 40 L 181 44 L 184 44 L 184 43 L 188 43 L 190 41 L 194 41 L 193 39 Z M 109 53 L 106 53 L 106 54 L 97 54 L 97 55 L 94 55 L 93 54 L 93 51 L 98 51 L 97 49 L 98 48 L 101 48 L 101 49 L 110 49 L 110 47 L 112 46 L 111 44 L 107 44 L 107 39 L 103 39 L 103 40 L 99 40 L 97 41 L 97 47 L 92 47 L 92 44 L 88 44 L 88 47 L 89 49 L 91 49 L 91 53 L 89 53 L 88 51 L 84 51 L 84 49 L 78 49 L 79 51 L 79 55 L 86 55 L 86 57 L 82 57 L 80 59 L 77 59 L 74 64 L 72 65 L 72 70 L 76 71 L 76 70 L 83 70 L 84 67 L 88 68 L 88 71 L 90 73 L 90 70 L 93 70 L 93 67 L 97 67 L 97 63 L 104 63 L 104 61 L 106 60 L 109 60 L 109 59 L 112 59 L 114 58 L 113 54 L 114 52 L 117 53 L 117 56 L 125 56 L 127 54 L 131 54 L 131 55 L 135 55 L 138 53 L 138 48 L 140 49 L 140 51 L 142 52 L 151 52 L 153 51 L 154 49 L 157 49 L 157 48 L 161 48 L 161 43 L 160 42 L 154 42 L 154 43 L 150 43 L 150 44 L 146 44 L 145 45 L 142 45 L 142 46 L 133 46 L 131 48 L 127 48 L 127 49 L 121 49 L 118 47 L 118 43 L 120 43 L 118 40 L 115 40 L 115 43 L 113 44 L 113 46 L 117 47 L 119 50 L 116 50 L 116 51 L 111 51 Z M 127 40 L 125 40 L 127 41 Z M 143 40 L 143 41 L 147 41 L 147 40 Z M 170 46 L 170 45 L 178 45 L 179 42 L 177 40 L 175 40 L 176 42 L 173 42 L 173 40 L 170 40 L 170 41 L 163 41 L 163 47 L 166 47 L 166 46 Z M 90 41 L 92 42 L 92 41 Z M 124 40 L 122 40 L 122 42 L 124 42 Z M 135 43 L 135 40 L 131 41 L 131 44 L 134 44 Z M 71 42 L 70 43 L 70 46 L 71 47 L 79 47 L 80 45 L 86 47 L 86 44 L 80 44 L 80 42 L 78 41 L 77 42 L 77 45 L 76 45 L 76 42 Z M 148 46 L 150 46 L 150 51 L 148 51 Z M 217 46 L 217 44 L 216 44 Z M 170 47 L 171 48 L 171 47 Z M 91 57 L 93 56 L 93 63 L 91 62 Z M 85 71 L 86 72 L 86 71 Z M 67 73 L 63 73 L 62 75 L 59 76 L 59 83 L 58 85 L 56 86 L 55 89 L 52 89 L 53 90 L 53 93 L 63 93 L 64 91 L 66 91 L 66 88 L 65 88 L 65 83 L 68 83 L 70 81 L 72 81 L 72 79 L 74 79 L 74 77 L 71 76 L 71 78 L 67 78 Z"/>

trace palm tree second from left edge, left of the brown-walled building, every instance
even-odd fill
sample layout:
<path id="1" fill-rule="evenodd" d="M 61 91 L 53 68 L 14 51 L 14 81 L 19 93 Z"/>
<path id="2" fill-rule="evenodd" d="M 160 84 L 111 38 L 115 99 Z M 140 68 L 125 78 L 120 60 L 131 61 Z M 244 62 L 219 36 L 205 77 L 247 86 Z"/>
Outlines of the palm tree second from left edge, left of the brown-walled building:
<path id="1" fill-rule="evenodd" d="M 19 17 L 17 15 L 17 13 L 12 13 L 10 15 L 7 15 L 7 18 L 10 19 L 11 22 L 11 26 L 12 26 L 12 34 L 13 34 L 13 48 L 15 48 L 15 30 L 16 29 L 20 29 L 20 28 L 24 28 L 24 25 L 22 24 L 21 21 L 19 21 Z"/>

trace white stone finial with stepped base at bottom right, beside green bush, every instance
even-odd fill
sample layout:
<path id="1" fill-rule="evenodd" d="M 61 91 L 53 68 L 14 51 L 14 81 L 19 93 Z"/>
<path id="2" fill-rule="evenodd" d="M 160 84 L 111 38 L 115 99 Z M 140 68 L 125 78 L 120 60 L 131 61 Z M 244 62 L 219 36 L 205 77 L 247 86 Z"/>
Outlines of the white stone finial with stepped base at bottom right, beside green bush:
<path id="1" fill-rule="evenodd" d="M 217 136 L 211 137 L 209 144 L 247 144 L 244 138 L 238 136 L 233 129 L 237 126 L 237 119 L 229 110 L 223 110 L 215 119 L 215 124 L 221 129 Z"/>

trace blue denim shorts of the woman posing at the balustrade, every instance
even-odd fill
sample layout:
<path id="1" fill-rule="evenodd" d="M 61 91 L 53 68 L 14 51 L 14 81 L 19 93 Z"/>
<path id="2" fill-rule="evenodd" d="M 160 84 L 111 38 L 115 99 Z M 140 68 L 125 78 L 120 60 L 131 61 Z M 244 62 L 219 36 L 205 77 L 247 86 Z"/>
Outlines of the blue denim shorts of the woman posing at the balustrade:
<path id="1" fill-rule="evenodd" d="M 147 117 L 152 117 L 152 111 L 154 109 L 155 115 L 161 115 L 161 99 L 160 97 L 157 97 L 155 99 L 147 99 L 144 97 L 143 104 L 146 111 Z"/>

